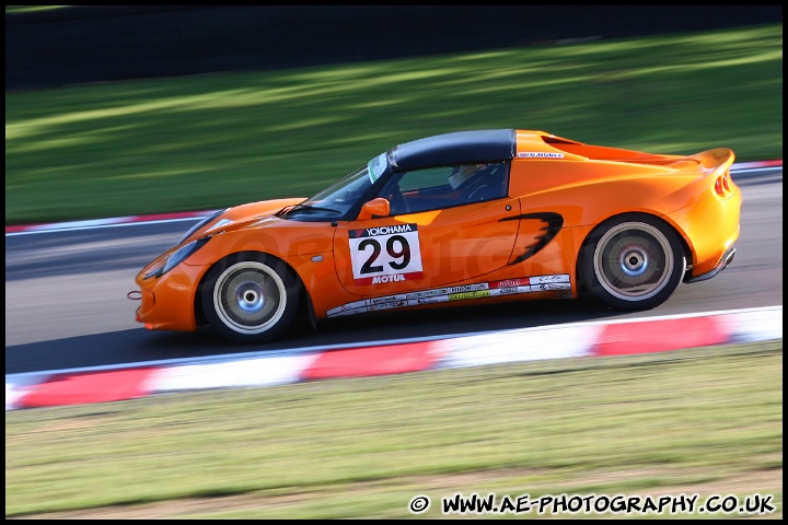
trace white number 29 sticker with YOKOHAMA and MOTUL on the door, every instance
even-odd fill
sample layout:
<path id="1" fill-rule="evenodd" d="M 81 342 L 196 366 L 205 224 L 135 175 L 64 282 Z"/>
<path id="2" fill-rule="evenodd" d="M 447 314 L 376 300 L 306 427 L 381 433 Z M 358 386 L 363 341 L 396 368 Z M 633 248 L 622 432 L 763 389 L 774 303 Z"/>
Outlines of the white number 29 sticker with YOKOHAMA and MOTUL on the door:
<path id="1" fill-rule="evenodd" d="M 421 278 L 421 246 L 416 224 L 364 228 L 348 233 L 357 285 Z"/>

